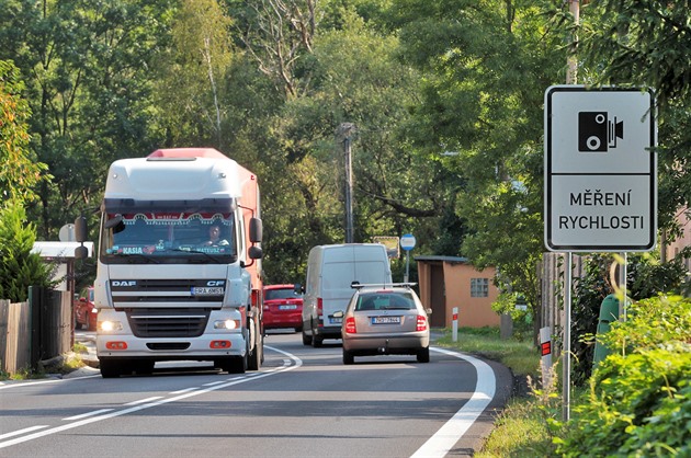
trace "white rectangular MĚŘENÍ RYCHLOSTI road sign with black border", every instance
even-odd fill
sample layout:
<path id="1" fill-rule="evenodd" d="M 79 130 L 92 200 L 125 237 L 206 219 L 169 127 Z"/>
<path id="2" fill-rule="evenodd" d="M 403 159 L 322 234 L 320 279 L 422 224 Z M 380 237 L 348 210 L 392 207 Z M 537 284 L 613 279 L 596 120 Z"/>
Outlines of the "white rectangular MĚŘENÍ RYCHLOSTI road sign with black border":
<path id="1" fill-rule="evenodd" d="M 657 233 L 652 91 L 553 85 L 545 91 L 545 245 L 650 251 Z"/>

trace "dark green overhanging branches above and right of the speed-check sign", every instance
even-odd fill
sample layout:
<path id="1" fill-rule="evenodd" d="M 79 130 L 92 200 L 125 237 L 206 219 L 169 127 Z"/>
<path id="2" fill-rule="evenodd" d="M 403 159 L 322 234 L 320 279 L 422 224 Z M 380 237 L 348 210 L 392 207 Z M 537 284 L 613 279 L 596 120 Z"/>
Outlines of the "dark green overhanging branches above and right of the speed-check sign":
<path id="1" fill-rule="evenodd" d="M 588 69 L 584 82 L 655 90 L 659 119 L 658 220 L 672 238 L 678 234 L 679 208 L 688 208 L 691 203 L 690 7 L 688 1 L 590 2 L 582 9 L 576 50 Z"/>

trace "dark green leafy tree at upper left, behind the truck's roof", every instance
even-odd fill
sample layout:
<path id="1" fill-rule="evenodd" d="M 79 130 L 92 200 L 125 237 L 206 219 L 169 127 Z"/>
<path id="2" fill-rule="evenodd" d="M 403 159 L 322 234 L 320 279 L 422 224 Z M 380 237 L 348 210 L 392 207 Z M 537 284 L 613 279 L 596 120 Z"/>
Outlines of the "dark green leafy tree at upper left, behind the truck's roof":
<path id="1" fill-rule="evenodd" d="M 150 130 L 151 67 L 174 3 L 0 1 L 0 58 L 21 70 L 33 114 L 30 148 L 55 178 L 30 208 L 43 237 L 98 206 L 112 160 L 159 142 Z"/>

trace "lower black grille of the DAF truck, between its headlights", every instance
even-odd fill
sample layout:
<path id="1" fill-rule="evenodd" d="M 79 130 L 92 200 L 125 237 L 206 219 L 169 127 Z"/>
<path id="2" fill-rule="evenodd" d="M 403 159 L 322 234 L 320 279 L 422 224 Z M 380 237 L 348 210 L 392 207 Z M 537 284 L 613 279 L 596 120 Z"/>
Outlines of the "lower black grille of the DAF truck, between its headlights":
<path id="1" fill-rule="evenodd" d="M 137 337 L 197 337 L 209 314 L 207 309 L 137 309 L 127 312 L 127 321 Z"/>

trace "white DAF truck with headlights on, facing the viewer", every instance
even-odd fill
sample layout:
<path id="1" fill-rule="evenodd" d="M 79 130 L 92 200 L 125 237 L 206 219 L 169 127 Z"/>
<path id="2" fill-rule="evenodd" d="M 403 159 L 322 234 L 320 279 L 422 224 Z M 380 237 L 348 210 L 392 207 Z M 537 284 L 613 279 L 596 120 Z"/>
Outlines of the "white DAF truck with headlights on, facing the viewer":
<path id="1" fill-rule="evenodd" d="M 215 149 L 160 149 L 111 164 L 101 210 L 101 375 L 150 374 L 163 360 L 259 369 L 257 176 Z"/>

